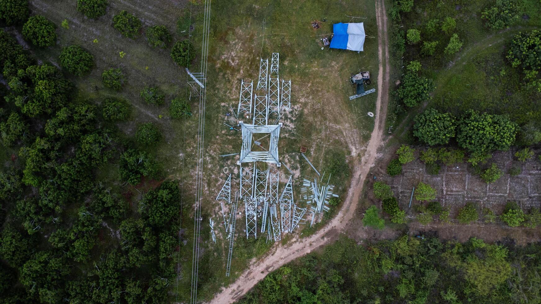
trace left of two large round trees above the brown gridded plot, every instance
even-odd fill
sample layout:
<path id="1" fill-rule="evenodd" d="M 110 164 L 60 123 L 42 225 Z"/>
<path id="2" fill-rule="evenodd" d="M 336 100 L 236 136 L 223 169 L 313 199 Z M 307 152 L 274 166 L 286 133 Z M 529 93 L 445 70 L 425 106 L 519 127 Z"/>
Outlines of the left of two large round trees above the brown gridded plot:
<path id="1" fill-rule="evenodd" d="M 455 120 L 450 113 L 440 113 L 432 108 L 415 116 L 413 135 L 423 143 L 445 145 L 455 135 Z"/>

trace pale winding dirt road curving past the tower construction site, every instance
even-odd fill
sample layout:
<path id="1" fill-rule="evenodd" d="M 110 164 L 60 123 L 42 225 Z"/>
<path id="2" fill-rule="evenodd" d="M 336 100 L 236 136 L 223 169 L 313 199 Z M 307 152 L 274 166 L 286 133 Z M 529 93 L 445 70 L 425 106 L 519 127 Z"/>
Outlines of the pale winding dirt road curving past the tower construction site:
<path id="1" fill-rule="evenodd" d="M 374 164 L 376 158 L 377 148 L 382 143 L 382 134 L 385 129 L 385 118 L 387 116 L 387 104 L 389 98 L 389 50 L 388 50 L 388 35 L 387 35 L 387 16 L 385 13 L 385 3 L 383 0 L 377 0 L 376 2 L 376 17 L 378 24 L 378 58 L 379 58 L 379 71 L 378 71 L 378 99 L 376 103 L 376 117 L 374 123 L 374 130 L 368 141 L 366 147 L 366 153 L 361 158 L 361 161 L 355 161 L 353 164 L 353 174 L 351 187 L 347 191 L 346 199 L 342 205 L 337 217 L 335 217 L 327 226 L 322 228 L 318 233 L 315 233 L 309 238 L 300 239 L 292 242 L 286 246 L 279 246 L 276 250 L 261 259 L 243 273 L 240 278 L 232 283 L 225 289 L 215 295 L 214 299 L 210 303 L 232 303 L 239 300 L 245 293 L 247 293 L 252 287 L 255 286 L 265 276 L 287 264 L 293 259 L 299 258 L 305 255 L 315 248 L 327 244 L 329 241 L 338 237 L 341 231 L 348 222 L 352 219 L 357 208 L 360 195 L 362 192 L 362 186 L 366 179 L 366 175 L 370 170 L 370 167 Z M 360 147 L 352 146 L 359 145 L 359 143 L 349 143 L 350 150 L 359 151 Z"/>

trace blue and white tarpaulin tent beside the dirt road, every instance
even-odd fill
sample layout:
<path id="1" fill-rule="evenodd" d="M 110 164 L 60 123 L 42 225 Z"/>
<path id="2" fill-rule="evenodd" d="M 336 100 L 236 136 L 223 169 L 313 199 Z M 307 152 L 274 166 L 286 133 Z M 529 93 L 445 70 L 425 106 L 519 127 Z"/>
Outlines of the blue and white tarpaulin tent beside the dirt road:
<path id="1" fill-rule="evenodd" d="M 361 23 L 335 23 L 333 24 L 333 39 L 331 48 L 362 51 L 365 44 L 365 26 Z"/>

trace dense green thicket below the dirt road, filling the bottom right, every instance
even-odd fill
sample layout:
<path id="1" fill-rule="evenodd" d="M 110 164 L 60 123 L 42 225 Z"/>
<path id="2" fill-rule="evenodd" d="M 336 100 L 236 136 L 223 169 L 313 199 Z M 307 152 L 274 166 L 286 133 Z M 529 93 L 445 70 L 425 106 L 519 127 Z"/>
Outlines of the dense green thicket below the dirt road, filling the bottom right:
<path id="1" fill-rule="evenodd" d="M 240 303 L 539 303 L 541 246 L 404 235 L 341 238 L 280 267 Z"/>

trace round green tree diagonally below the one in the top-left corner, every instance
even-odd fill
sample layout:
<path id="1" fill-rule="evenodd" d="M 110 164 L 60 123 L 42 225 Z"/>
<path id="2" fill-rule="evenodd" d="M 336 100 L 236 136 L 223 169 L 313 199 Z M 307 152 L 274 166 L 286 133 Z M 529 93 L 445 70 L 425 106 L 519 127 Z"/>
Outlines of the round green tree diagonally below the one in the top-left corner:
<path id="1" fill-rule="evenodd" d="M 30 17 L 27 23 L 23 25 L 24 39 L 42 47 L 56 44 L 55 31 L 55 24 L 40 15 Z"/>

